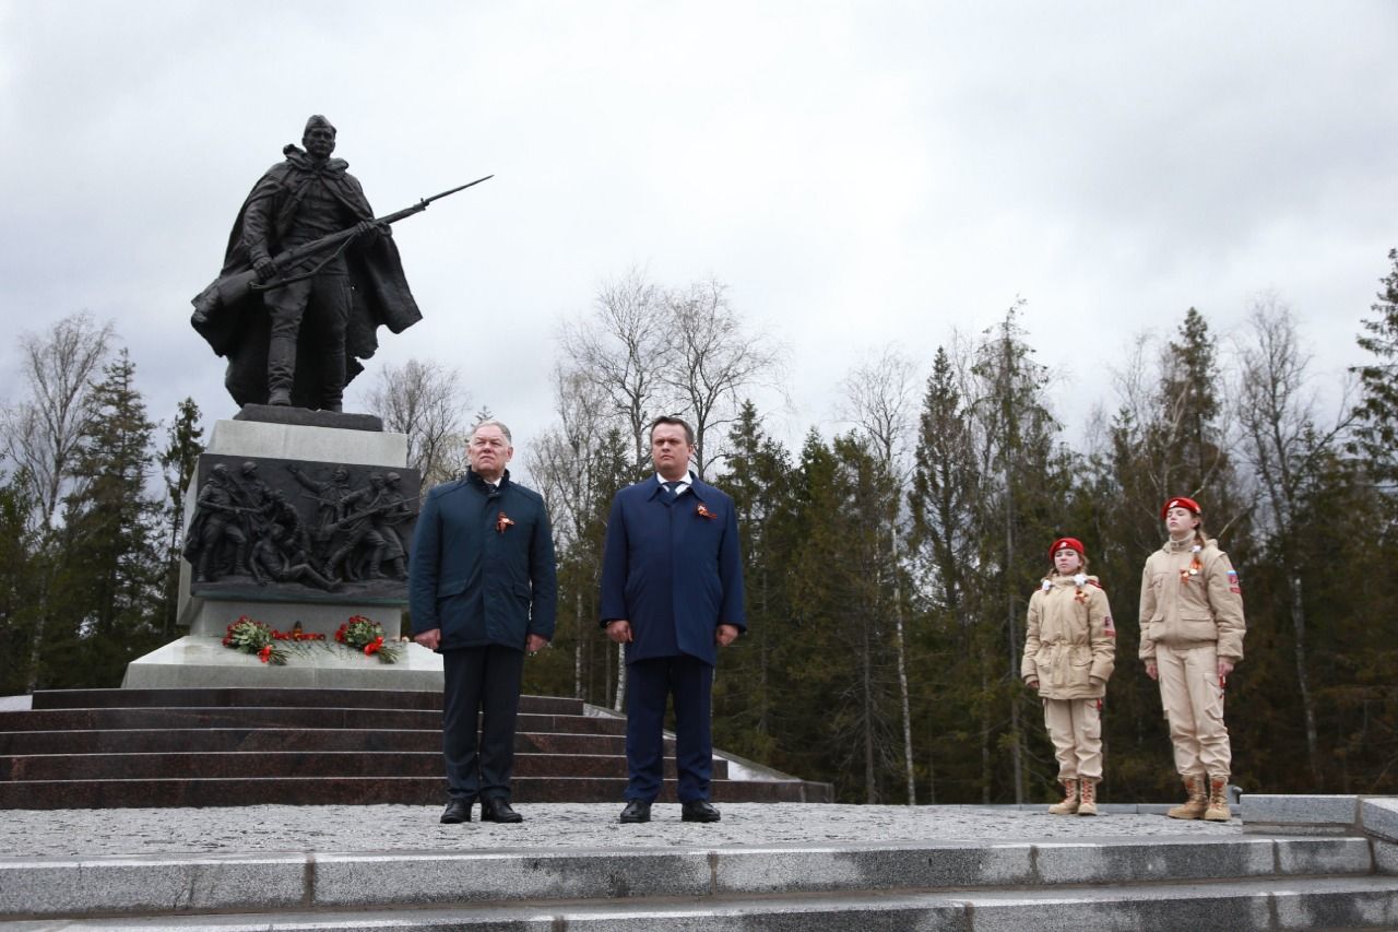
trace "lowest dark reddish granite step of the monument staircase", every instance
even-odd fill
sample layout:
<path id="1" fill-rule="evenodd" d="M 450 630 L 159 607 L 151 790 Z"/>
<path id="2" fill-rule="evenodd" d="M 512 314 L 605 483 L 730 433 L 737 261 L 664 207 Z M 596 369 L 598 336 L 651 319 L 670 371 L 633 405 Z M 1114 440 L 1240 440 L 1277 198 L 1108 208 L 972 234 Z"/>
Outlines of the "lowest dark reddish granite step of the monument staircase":
<path id="1" fill-rule="evenodd" d="M 440 760 L 440 758 L 439 758 Z M 514 777 L 516 803 L 617 802 L 622 777 Z M 830 802 L 829 784 L 800 779 L 714 779 L 714 802 Z M 435 806 L 446 799 L 436 777 L 260 777 L 189 779 L 49 779 L 0 782 L 0 809 L 144 809 L 172 806 Z M 667 779 L 660 802 L 675 802 Z"/>

